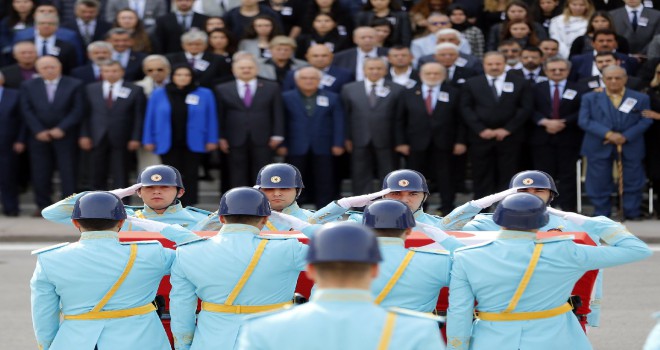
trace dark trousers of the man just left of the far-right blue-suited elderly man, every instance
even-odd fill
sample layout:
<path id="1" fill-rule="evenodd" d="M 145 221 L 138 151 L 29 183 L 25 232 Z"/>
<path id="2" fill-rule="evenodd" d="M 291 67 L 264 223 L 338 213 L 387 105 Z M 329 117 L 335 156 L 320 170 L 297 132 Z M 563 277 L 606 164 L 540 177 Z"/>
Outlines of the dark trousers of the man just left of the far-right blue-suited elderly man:
<path id="1" fill-rule="evenodd" d="M 557 197 L 553 204 L 562 210 L 577 211 L 577 182 L 575 162 L 580 157 L 580 146 L 548 143 L 532 147 L 534 169 L 545 171 L 557 183 Z"/>

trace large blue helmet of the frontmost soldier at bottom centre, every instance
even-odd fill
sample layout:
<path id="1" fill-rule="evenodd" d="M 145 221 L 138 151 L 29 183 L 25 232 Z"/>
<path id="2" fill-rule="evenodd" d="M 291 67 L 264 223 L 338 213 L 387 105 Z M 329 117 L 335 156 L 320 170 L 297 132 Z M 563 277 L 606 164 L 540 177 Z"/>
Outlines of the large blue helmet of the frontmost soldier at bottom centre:
<path id="1" fill-rule="evenodd" d="M 309 241 L 307 262 L 355 262 L 377 264 L 383 259 L 371 229 L 355 222 L 323 225 Z"/>

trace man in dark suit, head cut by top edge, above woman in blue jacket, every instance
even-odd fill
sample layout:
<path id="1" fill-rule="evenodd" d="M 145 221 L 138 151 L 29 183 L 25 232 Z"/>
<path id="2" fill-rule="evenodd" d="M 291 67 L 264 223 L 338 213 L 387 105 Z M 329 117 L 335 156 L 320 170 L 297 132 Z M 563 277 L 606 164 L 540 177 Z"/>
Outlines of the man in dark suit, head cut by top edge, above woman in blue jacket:
<path id="1" fill-rule="evenodd" d="M 168 54 L 181 51 L 181 35 L 198 28 L 204 30 L 207 16 L 193 12 L 193 0 L 174 0 L 174 10 L 156 19 L 154 52 Z"/>

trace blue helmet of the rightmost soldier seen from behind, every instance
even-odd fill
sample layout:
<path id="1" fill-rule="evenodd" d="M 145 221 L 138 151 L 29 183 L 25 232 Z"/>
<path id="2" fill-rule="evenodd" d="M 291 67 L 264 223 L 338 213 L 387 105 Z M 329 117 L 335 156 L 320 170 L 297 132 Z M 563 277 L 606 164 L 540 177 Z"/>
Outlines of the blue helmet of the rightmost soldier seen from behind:
<path id="1" fill-rule="evenodd" d="M 545 202 L 531 193 L 506 196 L 495 208 L 493 221 L 513 230 L 535 230 L 548 224 Z"/>

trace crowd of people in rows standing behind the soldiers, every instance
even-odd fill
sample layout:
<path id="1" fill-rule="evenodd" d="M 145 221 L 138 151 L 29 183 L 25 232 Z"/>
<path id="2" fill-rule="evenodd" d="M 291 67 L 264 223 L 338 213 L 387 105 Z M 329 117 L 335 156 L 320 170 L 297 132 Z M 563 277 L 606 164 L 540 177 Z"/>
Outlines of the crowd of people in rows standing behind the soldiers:
<path id="1" fill-rule="evenodd" d="M 575 211 L 581 156 L 594 215 L 613 215 L 618 187 L 620 219 L 640 219 L 642 190 L 660 183 L 653 1 L 3 4 L 7 216 L 21 184 L 36 215 L 51 205 L 55 171 L 67 197 L 160 163 L 194 204 L 215 158 L 226 192 L 280 157 L 317 208 L 342 179 L 370 193 L 401 164 L 431 180 L 444 214 L 466 177 L 479 198 L 525 168 L 551 174 Z"/>

